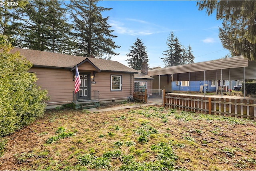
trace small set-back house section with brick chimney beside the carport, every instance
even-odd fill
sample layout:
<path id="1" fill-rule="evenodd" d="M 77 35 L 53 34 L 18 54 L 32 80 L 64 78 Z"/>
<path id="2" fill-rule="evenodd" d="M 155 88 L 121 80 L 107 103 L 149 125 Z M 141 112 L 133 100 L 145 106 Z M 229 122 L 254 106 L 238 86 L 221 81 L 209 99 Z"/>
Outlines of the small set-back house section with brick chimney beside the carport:
<path id="1" fill-rule="evenodd" d="M 142 91 L 145 89 L 152 89 L 153 78 L 148 76 L 148 64 L 146 61 L 142 62 L 141 71 L 138 74 L 134 74 L 134 91 Z"/>

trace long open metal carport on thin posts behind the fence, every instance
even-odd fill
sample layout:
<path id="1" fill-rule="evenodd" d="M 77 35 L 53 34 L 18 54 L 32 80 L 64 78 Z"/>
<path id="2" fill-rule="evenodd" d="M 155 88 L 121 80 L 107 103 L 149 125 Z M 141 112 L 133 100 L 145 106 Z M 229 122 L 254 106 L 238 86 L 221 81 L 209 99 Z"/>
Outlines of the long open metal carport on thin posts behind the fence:
<path id="1" fill-rule="evenodd" d="M 235 56 L 230 58 L 221 58 L 218 60 L 211 60 L 206 62 L 198 62 L 193 64 L 185 64 L 180 66 L 172 66 L 160 68 L 156 70 L 149 70 L 148 76 L 153 78 L 162 76 L 171 76 L 172 82 L 179 81 L 204 81 L 204 95 L 205 95 L 205 81 L 206 80 L 251 80 L 256 79 L 256 62 L 244 59 L 243 56 Z M 157 79 L 154 79 L 157 82 Z M 157 84 L 157 83 L 155 83 Z M 165 83 L 169 88 L 169 79 Z M 160 85 L 159 89 L 163 87 Z M 244 87 L 244 86 L 243 86 Z M 229 87 L 230 89 L 230 87 Z M 216 86 L 217 90 L 217 86 Z M 168 91 L 167 91 L 168 92 Z M 179 93 L 179 89 L 178 89 Z M 189 84 L 190 94 L 190 84 Z M 221 96 L 223 91 L 221 89 Z M 245 97 L 245 95 L 244 95 Z"/>

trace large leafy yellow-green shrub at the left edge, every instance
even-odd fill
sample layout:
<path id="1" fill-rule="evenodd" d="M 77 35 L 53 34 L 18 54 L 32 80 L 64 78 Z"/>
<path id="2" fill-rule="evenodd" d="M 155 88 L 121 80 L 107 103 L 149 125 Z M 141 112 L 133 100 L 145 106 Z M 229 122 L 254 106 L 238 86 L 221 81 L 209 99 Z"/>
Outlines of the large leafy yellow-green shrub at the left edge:
<path id="1" fill-rule="evenodd" d="M 9 135 L 44 114 L 46 90 L 35 82 L 32 64 L 18 52 L 10 54 L 11 44 L 0 35 L 0 137 Z"/>

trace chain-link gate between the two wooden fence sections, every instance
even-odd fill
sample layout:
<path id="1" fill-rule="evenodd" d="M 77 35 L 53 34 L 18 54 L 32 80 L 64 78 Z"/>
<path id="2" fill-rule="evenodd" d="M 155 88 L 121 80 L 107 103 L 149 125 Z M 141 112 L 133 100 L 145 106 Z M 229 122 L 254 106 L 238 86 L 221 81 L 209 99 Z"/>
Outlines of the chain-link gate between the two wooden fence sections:
<path id="1" fill-rule="evenodd" d="M 162 89 L 147 89 L 147 103 L 163 105 Z"/>

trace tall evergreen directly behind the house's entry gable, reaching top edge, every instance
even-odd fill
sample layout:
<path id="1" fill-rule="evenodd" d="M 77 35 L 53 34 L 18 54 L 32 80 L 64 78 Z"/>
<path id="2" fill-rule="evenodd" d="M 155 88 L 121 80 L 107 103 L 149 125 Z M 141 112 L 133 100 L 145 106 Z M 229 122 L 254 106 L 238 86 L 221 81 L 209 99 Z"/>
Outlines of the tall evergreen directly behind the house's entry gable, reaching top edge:
<path id="1" fill-rule="evenodd" d="M 76 55 L 96 56 L 118 55 L 113 49 L 120 48 L 115 45 L 112 38 L 116 38 L 107 21 L 109 17 L 103 18 L 101 12 L 111 10 L 96 6 L 98 1 L 71 1 L 71 18 L 74 20 L 72 34 L 76 37 Z"/>

